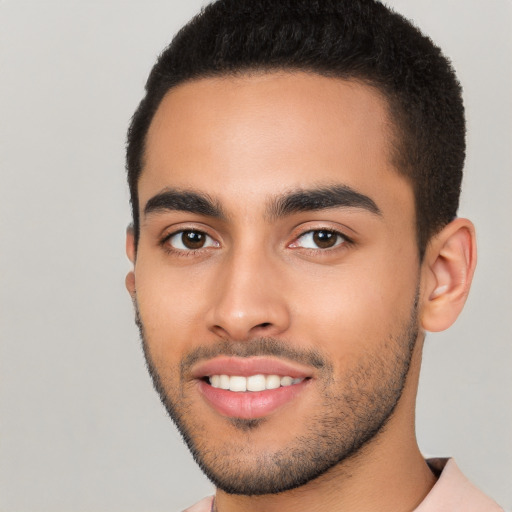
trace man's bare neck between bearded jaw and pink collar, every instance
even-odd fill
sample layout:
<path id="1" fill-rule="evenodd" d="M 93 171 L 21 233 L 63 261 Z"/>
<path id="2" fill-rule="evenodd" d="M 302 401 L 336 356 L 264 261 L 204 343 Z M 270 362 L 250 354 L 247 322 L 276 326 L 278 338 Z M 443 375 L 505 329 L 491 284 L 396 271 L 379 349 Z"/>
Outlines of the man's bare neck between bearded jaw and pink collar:
<path id="1" fill-rule="evenodd" d="M 435 483 L 414 432 L 421 342 L 417 345 L 404 392 L 392 417 L 356 455 L 291 491 L 239 496 L 218 490 L 217 512 L 413 511 Z"/>

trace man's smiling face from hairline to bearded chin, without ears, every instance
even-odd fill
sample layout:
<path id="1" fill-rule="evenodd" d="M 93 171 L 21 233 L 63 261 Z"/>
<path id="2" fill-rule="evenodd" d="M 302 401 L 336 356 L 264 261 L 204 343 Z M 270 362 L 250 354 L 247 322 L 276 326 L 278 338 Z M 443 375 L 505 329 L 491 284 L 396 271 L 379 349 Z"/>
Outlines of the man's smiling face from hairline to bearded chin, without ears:
<path id="1" fill-rule="evenodd" d="M 419 262 L 390 147 L 375 90 L 305 73 L 191 82 L 155 115 L 129 289 L 162 401 L 227 492 L 303 485 L 397 414 Z"/>

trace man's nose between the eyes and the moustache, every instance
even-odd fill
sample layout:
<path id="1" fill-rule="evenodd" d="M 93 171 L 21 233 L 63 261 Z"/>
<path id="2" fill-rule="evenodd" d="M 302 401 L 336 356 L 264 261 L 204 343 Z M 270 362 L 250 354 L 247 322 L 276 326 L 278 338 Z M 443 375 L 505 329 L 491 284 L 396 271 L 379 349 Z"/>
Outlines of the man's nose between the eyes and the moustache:
<path id="1" fill-rule="evenodd" d="M 217 274 L 208 328 L 217 336 L 245 341 L 277 336 L 290 326 L 282 272 L 276 262 L 255 251 L 227 258 Z"/>

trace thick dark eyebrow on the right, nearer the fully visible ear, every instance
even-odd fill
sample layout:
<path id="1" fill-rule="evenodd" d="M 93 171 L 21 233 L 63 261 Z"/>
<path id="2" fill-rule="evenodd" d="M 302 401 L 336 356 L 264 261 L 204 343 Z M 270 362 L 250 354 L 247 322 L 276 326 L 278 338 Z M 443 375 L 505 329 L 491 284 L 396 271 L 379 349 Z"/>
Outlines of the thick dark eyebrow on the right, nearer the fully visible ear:
<path id="1" fill-rule="evenodd" d="M 276 197 L 267 205 L 267 216 L 270 219 L 278 219 L 294 213 L 330 208 L 361 208 L 374 215 L 382 215 L 379 207 L 370 197 L 346 185 L 332 185 L 297 190 Z"/>

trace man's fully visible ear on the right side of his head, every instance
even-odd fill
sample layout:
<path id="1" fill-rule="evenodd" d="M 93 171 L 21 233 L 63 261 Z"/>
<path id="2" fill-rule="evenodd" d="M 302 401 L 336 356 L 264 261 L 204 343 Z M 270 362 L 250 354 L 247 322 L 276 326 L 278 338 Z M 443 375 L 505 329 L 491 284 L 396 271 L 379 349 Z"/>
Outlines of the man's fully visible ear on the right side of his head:
<path id="1" fill-rule="evenodd" d="M 476 266 L 475 228 L 455 219 L 428 244 L 422 263 L 422 327 L 450 327 L 464 307 Z"/>

